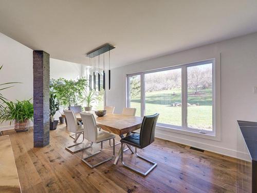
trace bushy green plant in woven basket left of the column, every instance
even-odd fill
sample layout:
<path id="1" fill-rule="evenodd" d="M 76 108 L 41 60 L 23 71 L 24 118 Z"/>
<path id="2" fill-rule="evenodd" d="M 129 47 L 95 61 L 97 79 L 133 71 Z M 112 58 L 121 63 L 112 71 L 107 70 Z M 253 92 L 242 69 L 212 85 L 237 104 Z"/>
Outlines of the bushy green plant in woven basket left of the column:
<path id="1" fill-rule="evenodd" d="M 33 120 L 33 104 L 30 100 L 16 102 L 5 101 L 4 107 L 0 108 L 0 122 L 14 121 L 14 130 L 16 132 L 27 131 L 30 121 Z"/>

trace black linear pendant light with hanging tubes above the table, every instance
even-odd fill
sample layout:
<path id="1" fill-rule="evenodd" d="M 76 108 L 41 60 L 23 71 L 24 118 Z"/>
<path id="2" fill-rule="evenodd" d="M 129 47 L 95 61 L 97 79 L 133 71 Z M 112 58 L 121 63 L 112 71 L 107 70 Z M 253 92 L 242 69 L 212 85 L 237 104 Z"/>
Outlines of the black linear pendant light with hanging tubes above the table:
<path id="1" fill-rule="evenodd" d="M 101 91 L 101 79 L 100 79 L 100 55 L 103 54 L 103 90 L 105 90 L 105 55 L 104 53 L 108 51 L 109 53 L 109 69 L 108 69 L 108 88 L 111 90 L 111 50 L 115 47 L 111 44 L 105 44 L 99 48 L 94 49 L 87 53 L 87 57 L 94 58 L 94 73 L 93 73 L 93 81 L 94 81 L 94 90 L 96 91 L 96 56 L 98 56 L 98 91 Z M 89 75 L 90 82 L 90 75 Z M 89 83 L 90 84 L 90 83 Z M 90 86 L 89 86 L 90 89 Z"/>

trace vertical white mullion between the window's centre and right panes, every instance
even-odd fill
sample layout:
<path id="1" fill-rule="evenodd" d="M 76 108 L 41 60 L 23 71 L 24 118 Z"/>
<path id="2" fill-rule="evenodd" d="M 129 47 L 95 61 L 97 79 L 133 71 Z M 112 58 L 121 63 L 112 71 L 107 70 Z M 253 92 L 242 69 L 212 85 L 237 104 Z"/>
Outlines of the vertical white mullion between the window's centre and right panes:
<path id="1" fill-rule="evenodd" d="M 182 128 L 187 128 L 187 67 L 181 67 Z"/>

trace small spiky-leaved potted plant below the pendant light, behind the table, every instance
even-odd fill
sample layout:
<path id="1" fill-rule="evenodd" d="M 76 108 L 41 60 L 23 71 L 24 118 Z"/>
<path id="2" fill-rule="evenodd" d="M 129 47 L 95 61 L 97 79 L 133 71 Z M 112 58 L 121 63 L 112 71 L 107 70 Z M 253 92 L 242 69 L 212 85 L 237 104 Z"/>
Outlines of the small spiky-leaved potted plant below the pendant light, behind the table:
<path id="1" fill-rule="evenodd" d="M 86 103 L 86 107 L 84 107 L 85 111 L 91 111 L 92 110 L 91 104 L 93 102 L 97 102 L 101 100 L 101 98 L 97 95 L 97 93 L 94 90 L 91 90 L 88 92 L 84 90 L 83 96 L 81 96 L 80 99 L 81 99 L 81 102 Z"/>

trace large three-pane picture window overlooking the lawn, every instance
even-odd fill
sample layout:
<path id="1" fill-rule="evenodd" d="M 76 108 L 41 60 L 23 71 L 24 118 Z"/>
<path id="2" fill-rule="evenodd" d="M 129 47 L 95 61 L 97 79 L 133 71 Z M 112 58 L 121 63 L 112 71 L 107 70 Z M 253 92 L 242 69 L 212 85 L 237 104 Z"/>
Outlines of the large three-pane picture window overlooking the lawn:
<path id="1" fill-rule="evenodd" d="M 214 60 L 127 75 L 127 106 L 159 113 L 158 125 L 214 132 Z"/>

